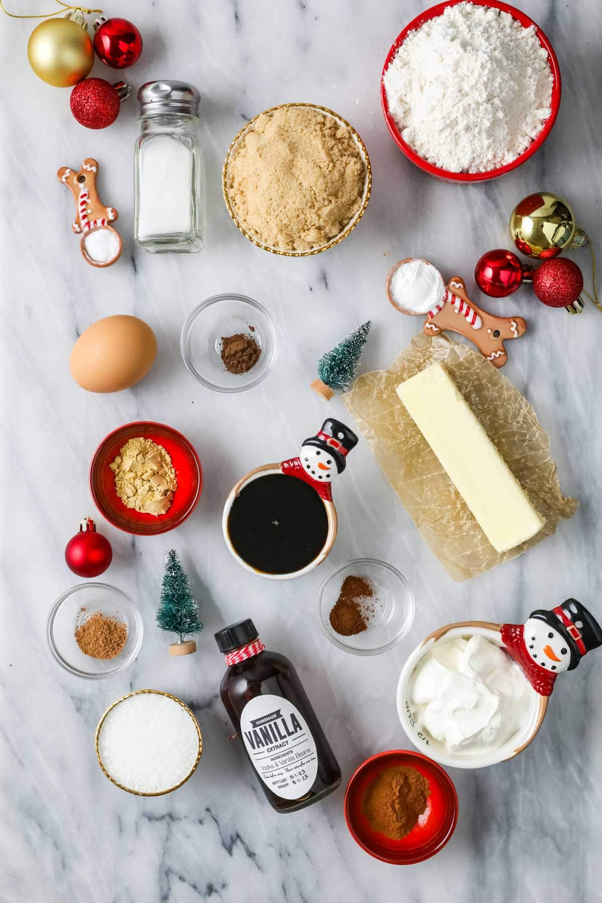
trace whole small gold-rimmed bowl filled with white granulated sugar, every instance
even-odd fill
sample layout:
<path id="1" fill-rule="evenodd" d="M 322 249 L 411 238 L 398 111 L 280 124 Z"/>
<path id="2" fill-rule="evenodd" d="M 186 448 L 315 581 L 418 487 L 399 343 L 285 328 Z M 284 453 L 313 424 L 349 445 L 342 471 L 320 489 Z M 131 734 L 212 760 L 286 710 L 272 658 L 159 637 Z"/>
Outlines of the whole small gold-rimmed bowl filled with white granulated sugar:
<path id="1" fill-rule="evenodd" d="M 159 705 L 153 706 L 154 711 L 146 706 L 147 711 L 141 712 L 145 701 Z M 128 718 L 125 707 L 133 704 L 139 711 L 135 718 L 131 713 Z M 112 748 L 109 731 L 116 734 Z M 134 796 L 164 796 L 185 784 L 197 770 L 203 738 L 199 721 L 177 696 L 161 690 L 134 690 L 109 705 L 98 721 L 95 749 L 103 774 L 120 790 Z M 186 755 L 181 757 L 179 768 L 180 762 L 173 757 L 182 750 Z M 124 759 L 128 752 L 130 758 Z M 169 781 L 165 782 L 169 786 L 159 786 L 161 777 L 157 775 L 162 764 L 169 769 Z M 151 777 L 144 774 L 145 769 Z"/>

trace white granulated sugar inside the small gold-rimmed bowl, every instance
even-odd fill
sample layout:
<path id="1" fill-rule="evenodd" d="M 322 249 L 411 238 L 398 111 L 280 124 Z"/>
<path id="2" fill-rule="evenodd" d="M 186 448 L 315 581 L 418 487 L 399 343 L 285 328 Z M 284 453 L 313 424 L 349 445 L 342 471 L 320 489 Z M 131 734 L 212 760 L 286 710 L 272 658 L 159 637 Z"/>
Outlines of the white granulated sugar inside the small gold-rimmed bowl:
<path id="1" fill-rule="evenodd" d="M 98 752 L 117 784 L 138 793 L 161 793 L 190 773 L 199 754 L 199 735 L 179 703 L 141 693 L 108 713 Z"/>

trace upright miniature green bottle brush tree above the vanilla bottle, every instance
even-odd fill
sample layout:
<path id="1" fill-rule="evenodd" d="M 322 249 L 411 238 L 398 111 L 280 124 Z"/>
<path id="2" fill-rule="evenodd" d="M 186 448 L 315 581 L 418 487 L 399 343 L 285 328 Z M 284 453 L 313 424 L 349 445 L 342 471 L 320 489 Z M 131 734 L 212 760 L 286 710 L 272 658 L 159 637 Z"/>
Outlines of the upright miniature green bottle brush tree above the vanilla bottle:
<path id="1" fill-rule="evenodd" d="M 157 610 L 157 624 L 162 630 L 178 635 L 170 643 L 171 656 L 188 656 L 197 651 L 194 639 L 186 639 L 192 633 L 200 633 L 199 609 L 190 592 L 188 576 L 175 549 L 170 549 L 165 562 L 161 584 L 161 600 Z"/>

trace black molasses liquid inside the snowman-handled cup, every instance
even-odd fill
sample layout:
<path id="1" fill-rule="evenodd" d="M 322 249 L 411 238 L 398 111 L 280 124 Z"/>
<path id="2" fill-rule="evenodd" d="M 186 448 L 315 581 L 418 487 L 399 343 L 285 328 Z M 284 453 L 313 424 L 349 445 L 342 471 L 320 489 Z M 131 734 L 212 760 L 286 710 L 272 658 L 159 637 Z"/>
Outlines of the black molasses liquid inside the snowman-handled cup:
<path id="1" fill-rule="evenodd" d="M 324 502 L 308 483 L 268 473 L 240 490 L 227 532 L 236 553 L 257 571 L 293 573 L 320 554 L 329 521 Z"/>

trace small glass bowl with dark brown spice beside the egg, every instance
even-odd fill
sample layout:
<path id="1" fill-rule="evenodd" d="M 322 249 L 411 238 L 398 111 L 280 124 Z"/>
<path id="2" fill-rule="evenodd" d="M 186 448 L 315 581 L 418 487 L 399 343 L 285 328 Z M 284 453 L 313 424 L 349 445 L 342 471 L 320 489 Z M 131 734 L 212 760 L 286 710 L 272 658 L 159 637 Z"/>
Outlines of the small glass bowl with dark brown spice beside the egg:
<path id="1" fill-rule="evenodd" d="M 278 337 L 263 304 L 244 294 L 216 294 L 198 304 L 181 331 L 186 368 L 215 392 L 244 392 L 276 358 Z"/>

